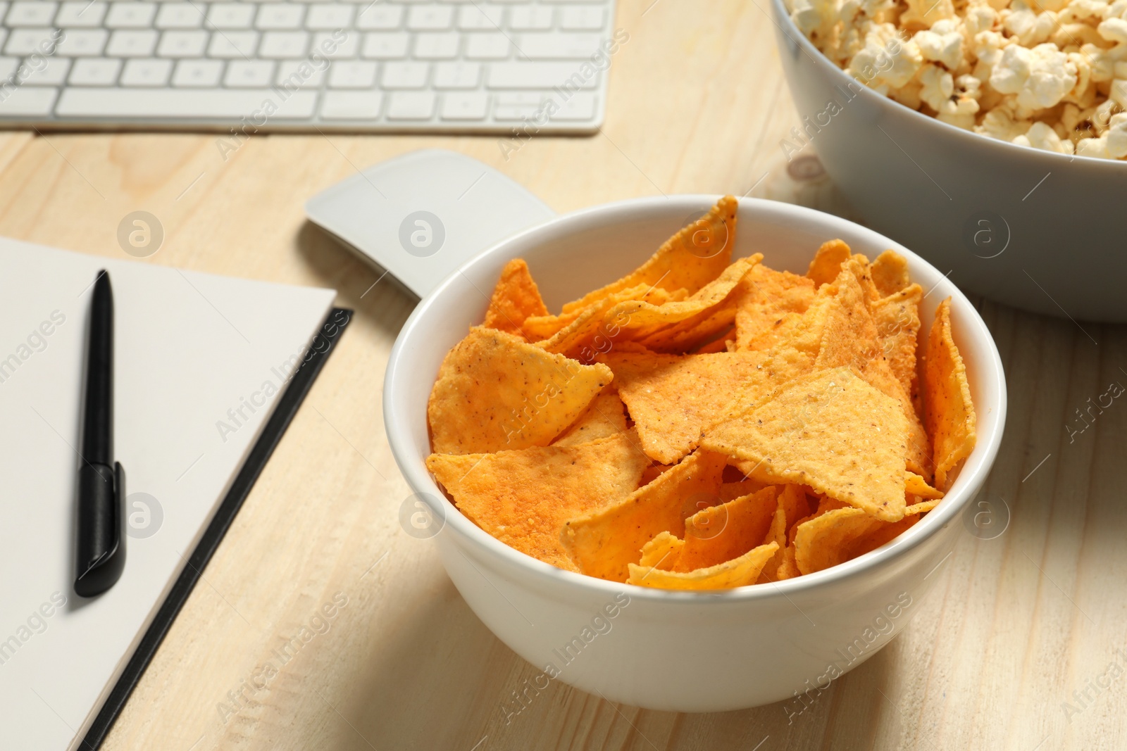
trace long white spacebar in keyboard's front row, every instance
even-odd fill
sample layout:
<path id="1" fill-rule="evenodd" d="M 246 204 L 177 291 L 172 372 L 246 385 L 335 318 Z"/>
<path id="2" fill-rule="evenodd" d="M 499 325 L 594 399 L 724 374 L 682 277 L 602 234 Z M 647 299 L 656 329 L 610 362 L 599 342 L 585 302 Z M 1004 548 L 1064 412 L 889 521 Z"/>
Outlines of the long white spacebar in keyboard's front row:
<path id="1" fill-rule="evenodd" d="M 261 127 L 269 120 L 312 117 L 316 105 L 316 91 L 82 88 L 63 91 L 55 106 L 55 115 L 199 119 L 246 117 L 249 123 Z"/>

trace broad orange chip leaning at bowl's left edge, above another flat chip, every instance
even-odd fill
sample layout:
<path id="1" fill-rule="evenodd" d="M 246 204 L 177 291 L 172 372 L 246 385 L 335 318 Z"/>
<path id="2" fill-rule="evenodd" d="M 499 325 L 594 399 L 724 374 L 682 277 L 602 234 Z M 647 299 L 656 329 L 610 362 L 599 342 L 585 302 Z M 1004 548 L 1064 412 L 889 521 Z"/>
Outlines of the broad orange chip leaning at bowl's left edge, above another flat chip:
<path id="1" fill-rule="evenodd" d="M 613 378 L 518 337 L 474 327 L 446 354 L 427 404 L 436 454 L 547 446 Z"/>

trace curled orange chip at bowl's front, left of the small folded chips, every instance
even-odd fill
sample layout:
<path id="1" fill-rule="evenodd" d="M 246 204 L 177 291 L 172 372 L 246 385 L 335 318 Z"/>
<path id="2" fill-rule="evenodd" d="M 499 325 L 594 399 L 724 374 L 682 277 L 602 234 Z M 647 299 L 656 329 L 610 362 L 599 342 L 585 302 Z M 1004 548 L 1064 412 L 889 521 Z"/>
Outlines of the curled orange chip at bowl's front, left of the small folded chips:
<path id="1" fill-rule="evenodd" d="M 693 495 L 719 490 L 724 464 L 724 456 L 709 452 L 685 457 L 620 503 L 568 520 L 564 548 L 583 573 L 624 582 L 646 543 L 663 531 L 684 535 L 682 509 Z"/>

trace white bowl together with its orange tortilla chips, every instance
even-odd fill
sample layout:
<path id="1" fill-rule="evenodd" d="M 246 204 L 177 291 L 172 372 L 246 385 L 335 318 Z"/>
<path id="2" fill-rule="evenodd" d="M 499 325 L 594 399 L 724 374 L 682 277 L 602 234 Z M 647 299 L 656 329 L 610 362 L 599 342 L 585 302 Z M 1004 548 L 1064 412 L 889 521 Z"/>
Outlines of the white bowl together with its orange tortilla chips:
<path id="1" fill-rule="evenodd" d="M 1005 399 L 977 311 L 908 249 L 674 196 L 452 274 L 403 325 L 383 408 L 405 529 L 539 671 L 512 719 L 553 680 L 800 713 L 942 578 Z"/>

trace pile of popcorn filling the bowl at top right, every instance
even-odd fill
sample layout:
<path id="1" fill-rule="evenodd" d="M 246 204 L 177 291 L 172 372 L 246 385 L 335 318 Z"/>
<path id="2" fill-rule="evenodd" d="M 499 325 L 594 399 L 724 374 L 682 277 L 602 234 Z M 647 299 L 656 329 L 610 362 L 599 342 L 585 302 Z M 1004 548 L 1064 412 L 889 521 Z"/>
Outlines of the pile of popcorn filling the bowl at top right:
<path id="1" fill-rule="evenodd" d="M 846 73 L 1010 143 L 1127 158 L 1127 0 L 787 0 Z"/>

